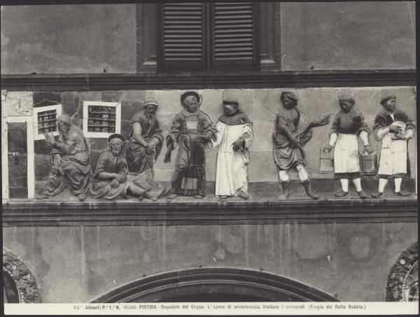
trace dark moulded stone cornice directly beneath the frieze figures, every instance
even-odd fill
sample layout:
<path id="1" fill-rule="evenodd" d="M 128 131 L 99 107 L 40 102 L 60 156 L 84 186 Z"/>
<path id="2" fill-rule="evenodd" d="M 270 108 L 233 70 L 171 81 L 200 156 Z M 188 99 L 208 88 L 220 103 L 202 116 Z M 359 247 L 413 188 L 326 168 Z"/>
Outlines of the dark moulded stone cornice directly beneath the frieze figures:
<path id="1" fill-rule="evenodd" d="M 412 223 L 416 199 L 260 202 L 9 202 L 3 226 Z"/>

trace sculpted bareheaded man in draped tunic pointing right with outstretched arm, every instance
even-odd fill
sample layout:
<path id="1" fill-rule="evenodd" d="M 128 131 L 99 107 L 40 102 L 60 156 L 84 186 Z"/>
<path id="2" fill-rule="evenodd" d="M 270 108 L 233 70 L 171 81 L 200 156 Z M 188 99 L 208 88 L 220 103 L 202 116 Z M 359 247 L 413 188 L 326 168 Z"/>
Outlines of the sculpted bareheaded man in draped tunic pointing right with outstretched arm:
<path id="1" fill-rule="evenodd" d="M 290 178 L 287 171 L 296 169 L 306 194 L 312 199 L 318 195 L 311 189 L 309 176 L 304 166 L 307 165 L 303 146 L 311 139 L 312 129 L 327 125 L 330 115 L 321 120 L 309 120 L 297 106 L 297 97 L 293 92 L 282 92 L 281 103 L 283 107 L 276 115 L 273 139 L 274 163 L 279 169 L 279 178 L 283 194 L 279 199 L 290 196 Z"/>

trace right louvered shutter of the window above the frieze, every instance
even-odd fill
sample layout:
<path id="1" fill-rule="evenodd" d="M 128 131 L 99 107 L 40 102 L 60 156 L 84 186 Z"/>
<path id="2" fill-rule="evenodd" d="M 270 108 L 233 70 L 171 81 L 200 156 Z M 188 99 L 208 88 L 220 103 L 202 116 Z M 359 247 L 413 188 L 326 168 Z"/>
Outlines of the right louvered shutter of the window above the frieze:
<path id="1" fill-rule="evenodd" d="M 253 3 L 212 4 L 212 64 L 257 65 Z"/>

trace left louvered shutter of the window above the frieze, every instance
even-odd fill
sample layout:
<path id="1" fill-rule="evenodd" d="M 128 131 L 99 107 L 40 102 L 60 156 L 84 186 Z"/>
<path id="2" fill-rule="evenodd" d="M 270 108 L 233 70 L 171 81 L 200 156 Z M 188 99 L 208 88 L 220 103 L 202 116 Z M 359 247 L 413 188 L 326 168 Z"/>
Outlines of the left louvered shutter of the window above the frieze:
<path id="1" fill-rule="evenodd" d="M 204 3 L 162 3 L 160 66 L 202 69 L 207 45 Z"/>

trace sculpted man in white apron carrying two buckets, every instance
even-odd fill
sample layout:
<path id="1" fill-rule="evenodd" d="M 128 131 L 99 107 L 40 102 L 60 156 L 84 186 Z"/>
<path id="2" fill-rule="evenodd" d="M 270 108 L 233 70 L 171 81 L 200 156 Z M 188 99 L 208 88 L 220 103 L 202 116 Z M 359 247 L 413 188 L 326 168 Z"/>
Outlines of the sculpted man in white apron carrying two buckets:
<path id="1" fill-rule="evenodd" d="M 335 193 L 335 197 L 349 194 L 349 179 L 353 180 L 361 199 L 367 195 L 363 192 L 360 181 L 360 160 L 358 154 L 358 137 L 363 141 L 365 151 L 373 153 L 369 144 L 370 129 L 367 127 L 362 113 L 353 108 L 354 99 L 343 95 L 338 98 L 341 111 L 335 115 L 330 132 L 330 143 L 323 148 L 329 153 L 334 148 L 334 173 L 339 178 L 342 190 Z"/>

